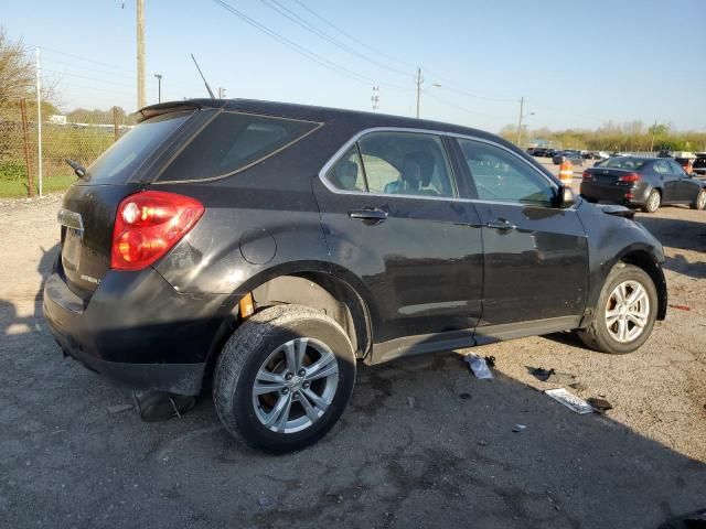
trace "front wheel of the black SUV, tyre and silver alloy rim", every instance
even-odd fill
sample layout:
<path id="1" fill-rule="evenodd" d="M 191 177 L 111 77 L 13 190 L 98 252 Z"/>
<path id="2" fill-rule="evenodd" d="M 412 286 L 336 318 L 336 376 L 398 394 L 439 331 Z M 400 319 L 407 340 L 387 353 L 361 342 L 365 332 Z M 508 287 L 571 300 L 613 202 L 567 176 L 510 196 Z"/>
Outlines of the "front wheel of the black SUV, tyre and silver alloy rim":
<path id="1" fill-rule="evenodd" d="M 619 285 L 625 285 L 624 293 L 628 294 L 627 300 L 630 300 L 630 296 L 635 293 L 635 284 L 643 289 L 644 296 L 640 298 L 640 303 L 635 302 L 631 305 L 634 311 L 627 309 L 621 313 L 619 304 L 616 304 L 616 290 Z M 608 312 L 612 313 L 610 315 L 611 321 L 616 317 L 614 323 L 611 325 L 609 325 Z M 592 349 L 613 355 L 624 355 L 637 350 L 646 342 L 654 327 L 656 313 L 657 291 L 652 278 L 641 268 L 621 262 L 613 267 L 603 283 L 596 307 L 596 316 L 591 325 L 588 328 L 579 330 L 578 335 L 581 342 Z M 635 323 L 637 320 L 642 321 L 642 327 Z M 632 328 L 630 327 L 631 324 Z M 621 325 L 624 325 L 627 330 L 623 336 L 625 339 L 619 339 L 617 336 L 620 333 Z M 637 328 L 641 328 L 641 331 L 635 333 Z M 630 334 L 634 334 L 634 336 L 631 337 Z"/>

